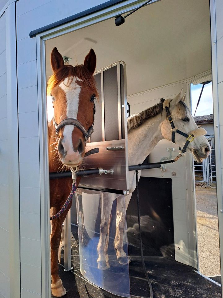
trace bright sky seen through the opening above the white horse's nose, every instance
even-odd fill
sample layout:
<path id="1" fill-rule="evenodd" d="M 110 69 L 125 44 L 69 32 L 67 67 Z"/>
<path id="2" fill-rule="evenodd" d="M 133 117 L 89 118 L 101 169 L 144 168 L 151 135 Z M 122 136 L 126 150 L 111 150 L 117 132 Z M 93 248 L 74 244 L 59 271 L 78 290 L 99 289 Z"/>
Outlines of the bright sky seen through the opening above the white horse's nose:
<path id="1" fill-rule="evenodd" d="M 194 116 L 199 95 L 201 92 L 202 84 L 191 84 L 191 102 L 192 102 L 192 115 Z M 203 116 L 213 114 L 213 97 L 212 97 L 212 82 L 205 85 L 201 95 L 200 103 L 197 108 L 195 116 Z"/>

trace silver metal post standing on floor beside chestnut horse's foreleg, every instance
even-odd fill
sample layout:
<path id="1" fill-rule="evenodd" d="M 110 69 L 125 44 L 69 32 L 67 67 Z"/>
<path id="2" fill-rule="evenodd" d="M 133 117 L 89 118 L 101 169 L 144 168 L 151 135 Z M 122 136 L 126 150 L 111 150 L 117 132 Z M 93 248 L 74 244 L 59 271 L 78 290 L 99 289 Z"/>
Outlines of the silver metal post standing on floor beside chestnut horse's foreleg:
<path id="1" fill-rule="evenodd" d="M 71 267 L 71 219 L 70 210 L 64 221 L 64 271 L 72 270 Z"/>

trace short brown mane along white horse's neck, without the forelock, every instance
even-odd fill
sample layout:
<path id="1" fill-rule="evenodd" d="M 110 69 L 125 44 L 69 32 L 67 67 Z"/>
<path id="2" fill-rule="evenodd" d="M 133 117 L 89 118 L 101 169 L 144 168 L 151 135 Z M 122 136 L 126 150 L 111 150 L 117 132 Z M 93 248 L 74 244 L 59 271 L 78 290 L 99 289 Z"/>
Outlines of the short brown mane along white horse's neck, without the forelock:
<path id="1" fill-rule="evenodd" d="M 165 99 L 161 98 L 160 102 L 157 103 L 155 106 L 151 106 L 150 108 L 148 108 L 138 114 L 131 115 L 127 119 L 128 132 L 131 129 L 139 127 L 146 120 L 151 119 L 151 118 L 155 117 L 156 115 L 159 115 L 161 113 L 161 111 L 163 110 L 164 101 L 165 101 Z"/>

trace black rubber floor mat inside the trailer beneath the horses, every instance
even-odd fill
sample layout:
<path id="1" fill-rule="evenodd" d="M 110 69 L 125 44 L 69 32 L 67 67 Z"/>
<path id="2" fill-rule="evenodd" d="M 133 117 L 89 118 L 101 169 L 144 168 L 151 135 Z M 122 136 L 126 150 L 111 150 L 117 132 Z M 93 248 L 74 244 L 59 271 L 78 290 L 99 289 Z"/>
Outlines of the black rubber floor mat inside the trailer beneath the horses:
<path id="1" fill-rule="evenodd" d="M 67 290 L 64 298 L 117 298 L 84 280 L 79 267 L 77 227 L 72 226 L 72 271 L 64 272 L 59 265 L 59 276 Z M 133 248 L 129 249 L 133 252 Z M 150 297 L 140 256 L 130 255 L 129 264 L 131 295 Z M 194 268 L 164 257 L 145 257 L 146 269 L 152 283 L 154 298 L 221 298 L 221 287 L 209 282 Z M 61 254 L 63 264 L 63 255 Z M 109 269 L 108 269 L 109 270 Z M 54 296 L 52 296 L 54 297 Z"/>

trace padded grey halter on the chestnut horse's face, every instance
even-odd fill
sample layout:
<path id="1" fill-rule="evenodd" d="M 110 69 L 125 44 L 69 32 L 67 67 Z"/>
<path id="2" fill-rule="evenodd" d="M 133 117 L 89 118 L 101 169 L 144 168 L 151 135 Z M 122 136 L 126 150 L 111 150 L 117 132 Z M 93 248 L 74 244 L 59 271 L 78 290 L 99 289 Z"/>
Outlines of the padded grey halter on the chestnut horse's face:
<path id="1" fill-rule="evenodd" d="M 95 107 L 95 103 L 94 103 L 94 115 L 96 112 L 96 107 Z M 80 131 L 83 133 L 84 135 L 84 142 L 86 144 L 87 140 L 90 138 L 90 136 L 92 135 L 93 131 L 94 131 L 94 115 L 93 115 L 93 123 L 91 125 L 91 127 L 88 129 L 88 131 L 84 128 L 84 126 L 81 124 L 80 121 L 78 121 L 75 118 L 66 118 L 63 121 L 61 121 L 59 124 L 56 123 L 54 117 L 53 117 L 53 123 L 56 129 L 56 133 L 59 133 L 60 129 L 62 127 L 64 127 L 65 125 L 73 125 L 75 127 L 77 127 L 78 129 L 80 129 Z"/>

